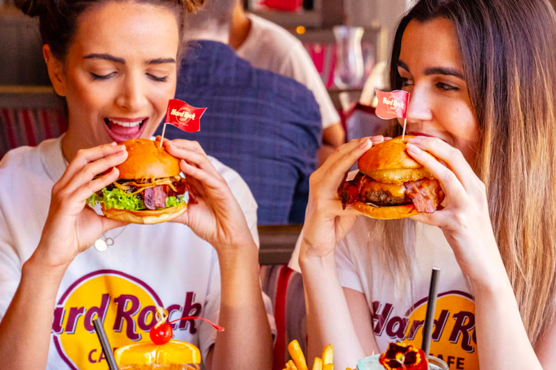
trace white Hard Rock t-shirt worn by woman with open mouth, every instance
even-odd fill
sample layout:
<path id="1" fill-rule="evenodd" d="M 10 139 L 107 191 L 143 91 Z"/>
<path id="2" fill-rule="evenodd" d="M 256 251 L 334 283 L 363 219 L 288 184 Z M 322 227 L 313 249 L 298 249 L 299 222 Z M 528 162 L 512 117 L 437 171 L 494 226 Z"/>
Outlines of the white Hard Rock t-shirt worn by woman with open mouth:
<path id="1" fill-rule="evenodd" d="M 211 163 L 227 180 L 258 244 L 256 202 L 249 188 L 236 171 L 214 158 Z M 23 263 L 38 245 L 51 188 L 65 168 L 60 139 L 13 149 L 0 162 L 0 319 L 19 285 Z M 218 323 L 220 268 L 213 246 L 173 223 L 129 224 L 106 235 L 114 239 L 113 246 L 102 253 L 95 248 L 80 253 L 63 277 L 47 369 L 108 368 L 92 327 L 98 315 L 104 317 L 113 347 L 149 341 L 156 306 L 166 308 L 170 320 L 200 316 Z M 172 325 L 173 339 L 195 344 L 206 358 L 217 333 L 212 326 L 199 320 Z"/>

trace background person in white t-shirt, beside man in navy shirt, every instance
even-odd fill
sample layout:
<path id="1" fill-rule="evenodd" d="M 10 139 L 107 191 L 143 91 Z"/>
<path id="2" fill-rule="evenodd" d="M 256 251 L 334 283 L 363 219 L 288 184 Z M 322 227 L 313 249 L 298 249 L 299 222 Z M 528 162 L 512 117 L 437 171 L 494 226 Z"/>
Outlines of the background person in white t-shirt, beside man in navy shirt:
<path id="1" fill-rule="evenodd" d="M 311 57 L 300 40 L 284 28 L 245 12 L 243 1 L 234 9 L 229 44 L 241 58 L 254 67 L 293 78 L 315 95 L 322 117 L 322 146 L 318 166 L 345 142 L 340 116 L 322 83 Z"/>

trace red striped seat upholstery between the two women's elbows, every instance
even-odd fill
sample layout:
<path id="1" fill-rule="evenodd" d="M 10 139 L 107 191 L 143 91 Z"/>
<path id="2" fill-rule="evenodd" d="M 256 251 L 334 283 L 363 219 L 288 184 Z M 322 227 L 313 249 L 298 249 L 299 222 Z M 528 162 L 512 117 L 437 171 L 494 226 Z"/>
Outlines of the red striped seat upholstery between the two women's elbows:
<path id="1" fill-rule="evenodd" d="M 262 266 L 263 292 L 274 305 L 277 337 L 273 353 L 273 370 L 284 369 L 290 359 L 288 344 L 297 339 L 307 353 L 307 324 L 301 274 L 284 264 Z"/>

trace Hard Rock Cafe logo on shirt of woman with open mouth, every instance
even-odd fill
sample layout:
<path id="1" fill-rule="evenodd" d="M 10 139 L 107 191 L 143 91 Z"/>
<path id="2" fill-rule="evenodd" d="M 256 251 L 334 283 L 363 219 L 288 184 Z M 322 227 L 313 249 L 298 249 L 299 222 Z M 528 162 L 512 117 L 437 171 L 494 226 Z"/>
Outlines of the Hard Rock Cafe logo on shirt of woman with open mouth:
<path id="1" fill-rule="evenodd" d="M 180 304 L 163 305 L 156 292 L 138 278 L 120 271 L 100 270 L 83 276 L 67 288 L 54 310 L 54 346 L 70 369 L 108 369 L 92 320 L 100 317 L 111 346 L 149 340 L 156 323 L 156 306 L 165 307 L 169 321 L 200 316 L 195 292 L 186 292 Z M 193 320 L 171 324 L 176 330 L 197 333 Z"/>

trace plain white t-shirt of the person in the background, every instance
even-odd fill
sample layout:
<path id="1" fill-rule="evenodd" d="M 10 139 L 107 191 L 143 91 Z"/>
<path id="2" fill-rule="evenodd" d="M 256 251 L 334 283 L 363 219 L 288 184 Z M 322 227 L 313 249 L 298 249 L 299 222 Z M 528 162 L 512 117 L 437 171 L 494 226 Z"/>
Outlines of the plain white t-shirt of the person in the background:
<path id="1" fill-rule="evenodd" d="M 300 40 L 264 18 L 252 14 L 247 17 L 251 20 L 251 30 L 236 51 L 237 55 L 256 68 L 293 78 L 305 85 L 313 92 L 320 107 L 322 128 L 338 124 L 340 116 Z"/>

